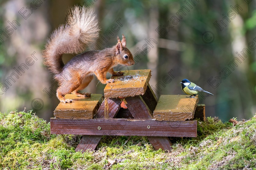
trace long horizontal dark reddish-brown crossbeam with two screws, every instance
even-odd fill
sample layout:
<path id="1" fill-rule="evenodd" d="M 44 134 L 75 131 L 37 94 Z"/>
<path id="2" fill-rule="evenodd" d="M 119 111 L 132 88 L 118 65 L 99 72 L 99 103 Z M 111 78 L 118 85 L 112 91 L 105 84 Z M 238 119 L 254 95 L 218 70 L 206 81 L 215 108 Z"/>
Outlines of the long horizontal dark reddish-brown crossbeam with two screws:
<path id="1" fill-rule="evenodd" d="M 196 137 L 197 121 L 155 121 L 154 119 L 58 119 L 51 118 L 51 134 Z M 150 127 L 149 127 L 150 126 Z"/>

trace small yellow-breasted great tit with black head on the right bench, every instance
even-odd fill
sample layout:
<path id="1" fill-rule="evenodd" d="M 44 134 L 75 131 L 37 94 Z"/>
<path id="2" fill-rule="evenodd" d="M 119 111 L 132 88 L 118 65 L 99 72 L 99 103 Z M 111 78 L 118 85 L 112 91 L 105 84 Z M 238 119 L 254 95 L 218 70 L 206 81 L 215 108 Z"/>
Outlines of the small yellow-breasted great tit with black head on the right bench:
<path id="1" fill-rule="evenodd" d="M 181 87 L 184 93 L 190 95 L 190 98 L 195 98 L 194 96 L 196 96 L 196 94 L 199 91 L 203 91 L 205 93 L 211 94 L 208 91 L 205 91 L 204 89 L 202 89 L 201 87 L 197 86 L 195 83 L 190 82 L 187 79 L 183 79 L 181 82 Z M 211 94 L 213 95 L 213 94 Z M 193 97 L 192 97 L 193 96 Z"/>

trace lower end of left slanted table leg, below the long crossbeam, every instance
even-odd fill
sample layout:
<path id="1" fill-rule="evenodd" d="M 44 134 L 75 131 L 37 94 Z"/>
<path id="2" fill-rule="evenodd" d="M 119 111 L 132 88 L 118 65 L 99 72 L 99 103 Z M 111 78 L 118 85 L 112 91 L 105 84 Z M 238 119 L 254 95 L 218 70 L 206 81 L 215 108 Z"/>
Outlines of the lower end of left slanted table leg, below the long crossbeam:
<path id="1" fill-rule="evenodd" d="M 76 152 L 77 151 L 81 151 L 81 152 L 85 152 L 86 150 L 91 150 L 93 151 L 99 141 L 101 140 L 101 135 L 84 135 L 82 138 L 81 138 L 81 141 L 79 142 L 79 144 L 77 145 L 76 147 Z"/>

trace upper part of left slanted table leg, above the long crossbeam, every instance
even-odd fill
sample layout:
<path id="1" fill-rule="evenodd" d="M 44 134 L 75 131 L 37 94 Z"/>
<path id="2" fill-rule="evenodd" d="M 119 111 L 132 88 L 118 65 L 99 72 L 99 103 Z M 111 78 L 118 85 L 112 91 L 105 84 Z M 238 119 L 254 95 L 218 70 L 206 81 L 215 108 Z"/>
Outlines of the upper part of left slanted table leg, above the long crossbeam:
<path id="1" fill-rule="evenodd" d="M 105 103 L 107 101 L 107 104 Z M 98 112 L 95 117 L 97 118 L 113 118 L 116 116 L 120 109 L 121 100 L 119 98 L 105 98 L 102 102 Z"/>

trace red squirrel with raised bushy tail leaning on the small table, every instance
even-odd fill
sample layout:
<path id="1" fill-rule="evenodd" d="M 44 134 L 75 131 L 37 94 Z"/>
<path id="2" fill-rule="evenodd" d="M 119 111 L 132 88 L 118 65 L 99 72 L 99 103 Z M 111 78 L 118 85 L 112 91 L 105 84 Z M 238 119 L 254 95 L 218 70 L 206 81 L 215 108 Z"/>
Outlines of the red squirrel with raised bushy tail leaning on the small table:
<path id="1" fill-rule="evenodd" d="M 94 74 L 103 84 L 113 83 L 113 79 L 106 79 L 107 72 L 112 76 L 120 76 L 123 72 L 114 72 L 114 66 L 131 66 L 135 63 L 133 55 L 126 48 L 124 35 L 122 41 L 117 37 L 117 44 L 111 48 L 81 53 L 89 44 L 95 42 L 100 29 L 92 10 L 75 6 L 71 13 L 66 25 L 60 25 L 52 33 L 43 50 L 44 65 L 54 73 L 54 78 L 59 83 L 57 97 L 64 103 L 73 101 L 64 97 L 69 93 L 79 97 L 90 97 L 91 93 L 80 93 L 79 90 L 88 86 Z M 76 22 L 73 23 L 74 21 Z M 62 54 L 79 55 L 64 65 Z"/>

